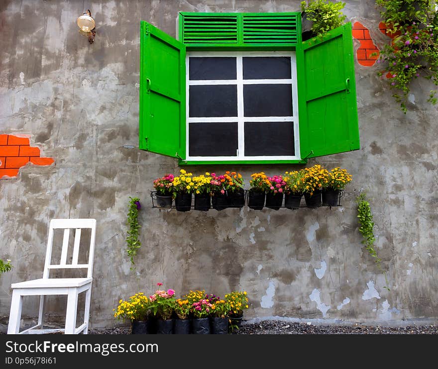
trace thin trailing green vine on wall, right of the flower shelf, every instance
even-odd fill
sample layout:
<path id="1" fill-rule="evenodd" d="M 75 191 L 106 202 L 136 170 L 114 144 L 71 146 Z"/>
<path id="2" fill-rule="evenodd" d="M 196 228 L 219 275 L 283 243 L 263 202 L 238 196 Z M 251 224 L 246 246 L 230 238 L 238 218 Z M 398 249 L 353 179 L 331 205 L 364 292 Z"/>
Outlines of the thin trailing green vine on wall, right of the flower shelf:
<path id="1" fill-rule="evenodd" d="M 385 276 L 386 286 L 384 286 L 383 288 L 386 288 L 389 291 L 390 289 L 388 287 L 388 278 L 386 277 L 386 273 L 381 266 L 382 260 L 377 256 L 377 251 L 374 248 L 374 242 L 376 241 L 376 238 L 373 231 L 373 215 L 371 213 L 370 203 L 366 200 L 366 195 L 364 192 L 357 196 L 356 203 L 358 213 L 357 217 L 359 218 L 360 224 L 359 232 L 362 234 L 363 237 L 362 244 L 365 245 L 365 248 L 368 250 L 371 257 L 374 258 L 377 268 L 379 268 L 379 270 Z"/>

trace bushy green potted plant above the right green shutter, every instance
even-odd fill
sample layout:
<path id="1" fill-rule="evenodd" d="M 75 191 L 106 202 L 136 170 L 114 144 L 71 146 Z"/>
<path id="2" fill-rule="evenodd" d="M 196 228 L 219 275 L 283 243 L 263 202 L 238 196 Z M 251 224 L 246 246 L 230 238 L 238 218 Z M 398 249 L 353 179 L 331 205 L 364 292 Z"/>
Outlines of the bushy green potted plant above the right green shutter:
<path id="1" fill-rule="evenodd" d="M 345 3 L 341 1 L 302 1 L 301 11 L 303 41 L 306 41 L 311 37 L 322 36 L 324 33 L 340 27 L 346 17 L 341 12 L 344 6 Z"/>

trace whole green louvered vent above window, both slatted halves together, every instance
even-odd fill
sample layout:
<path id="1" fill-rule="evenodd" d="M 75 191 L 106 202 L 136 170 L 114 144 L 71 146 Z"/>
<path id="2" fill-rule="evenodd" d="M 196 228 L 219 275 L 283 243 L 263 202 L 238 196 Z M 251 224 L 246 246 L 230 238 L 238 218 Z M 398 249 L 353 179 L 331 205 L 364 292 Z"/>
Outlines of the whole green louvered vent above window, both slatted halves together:
<path id="1" fill-rule="evenodd" d="M 293 47 L 301 13 L 180 12 L 180 39 L 187 46 Z"/>

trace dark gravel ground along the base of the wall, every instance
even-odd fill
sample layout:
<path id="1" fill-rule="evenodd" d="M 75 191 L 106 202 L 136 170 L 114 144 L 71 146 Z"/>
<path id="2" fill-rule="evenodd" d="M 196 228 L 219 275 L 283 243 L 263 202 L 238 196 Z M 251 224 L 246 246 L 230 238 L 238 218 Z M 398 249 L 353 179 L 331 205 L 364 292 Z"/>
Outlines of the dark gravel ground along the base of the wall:
<path id="1" fill-rule="evenodd" d="M 129 328 L 91 329 L 89 334 L 129 334 Z M 438 325 L 410 325 L 403 327 L 354 325 L 315 325 L 309 323 L 265 320 L 243 323 L 233 334 L 438 334 Z"/>

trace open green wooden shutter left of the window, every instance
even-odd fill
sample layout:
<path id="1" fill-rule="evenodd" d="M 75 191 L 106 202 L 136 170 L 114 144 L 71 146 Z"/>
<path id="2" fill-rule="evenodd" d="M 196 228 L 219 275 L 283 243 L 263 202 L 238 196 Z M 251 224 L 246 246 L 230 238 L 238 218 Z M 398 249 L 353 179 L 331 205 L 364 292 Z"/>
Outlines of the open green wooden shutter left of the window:
<path id="1" fill-rule="evenodd" d="M 185 159 L 186 47 L 140 23 L 139 148 Z"/>

